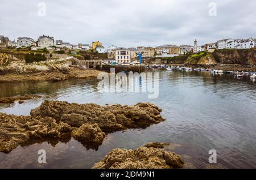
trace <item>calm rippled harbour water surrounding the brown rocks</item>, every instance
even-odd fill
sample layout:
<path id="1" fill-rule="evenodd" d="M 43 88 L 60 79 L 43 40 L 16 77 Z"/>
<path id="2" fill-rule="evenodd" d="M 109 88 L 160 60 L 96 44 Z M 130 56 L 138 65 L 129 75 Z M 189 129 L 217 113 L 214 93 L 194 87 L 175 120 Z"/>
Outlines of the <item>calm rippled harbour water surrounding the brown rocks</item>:
<path id="1" fill-rule="evenodd" d="M 149 71 L 149 70 L 148 70 Z M 100 93 L 96 79 L 66 82 L 0 83 L 0 96 L 37 94 L 39 100 L 0 105 L 0 112 L 29 115 L 44 100 L 96 104 L 152 102 L 163 109 L 166 121 L 146 129 L 109 134 L 98 151 L 76 140 L 47 142 L 0 153 L 0 168 L 92 168 L 114 148 L 135 149 L 148 142 L 174 143 L 172 151 L 187 168 L 256 168 L 256 83 L 233 75 L 209 72 L 160 71 L 159 97 L 147 93 Z M 47 164 L 38 163 L 38 150 L 47 152 Z M 217 164 L 210 165 L 208 151 L 216 149 Z"/>

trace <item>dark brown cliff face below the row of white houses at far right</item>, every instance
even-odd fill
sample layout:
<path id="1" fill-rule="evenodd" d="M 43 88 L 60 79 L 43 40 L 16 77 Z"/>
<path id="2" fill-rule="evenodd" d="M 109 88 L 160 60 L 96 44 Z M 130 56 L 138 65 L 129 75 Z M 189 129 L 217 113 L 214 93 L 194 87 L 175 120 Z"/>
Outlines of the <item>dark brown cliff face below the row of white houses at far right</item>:
<path id="1" fill-rule="evenodd" d="M 256 49 L 219 49 L 213 53 L 214 59 L 222 64 L 256 65 Z"/>

